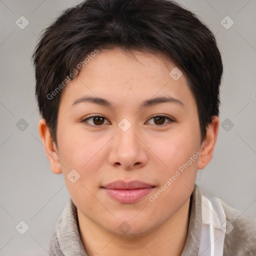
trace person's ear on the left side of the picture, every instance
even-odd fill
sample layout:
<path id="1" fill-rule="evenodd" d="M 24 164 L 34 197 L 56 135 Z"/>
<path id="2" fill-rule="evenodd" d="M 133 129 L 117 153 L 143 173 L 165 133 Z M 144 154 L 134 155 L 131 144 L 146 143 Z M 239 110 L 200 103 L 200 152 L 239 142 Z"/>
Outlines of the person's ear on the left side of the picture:
<path id="1" fill-rule="evenodd" d="M 57 147 L 50 136 L 49 128 L 46 125 L 45 119 L 40 119 L 38 122 L 38 131 L 44 146 L 44 151 L 50 163 L 51 171 L 55 174 L 62 173 Z"/>

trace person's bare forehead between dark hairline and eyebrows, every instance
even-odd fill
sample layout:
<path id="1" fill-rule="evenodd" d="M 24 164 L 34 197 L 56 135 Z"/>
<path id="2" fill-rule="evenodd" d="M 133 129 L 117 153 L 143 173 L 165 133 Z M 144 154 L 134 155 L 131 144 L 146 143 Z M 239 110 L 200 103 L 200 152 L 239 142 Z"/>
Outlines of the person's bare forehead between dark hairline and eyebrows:
<path id="1" fill-rule="evenodd" d="M 66 85 L 63 98 L 72 101 L 72 104 L 82 96 L 89 95 L 107 98 L 114 105 L 118 97 L 130 104 L 156 96 L 169 96 L 179 101 L 183 99 L 185 103 L 189 100 L 195 103 L 185 75 L 181 73 L 178 79 L 173 79 L 171 70 L 181 73 L 164 55 L 155 56 L 138 50 L 130 54 L 120 48 L 101 50 Z"/>

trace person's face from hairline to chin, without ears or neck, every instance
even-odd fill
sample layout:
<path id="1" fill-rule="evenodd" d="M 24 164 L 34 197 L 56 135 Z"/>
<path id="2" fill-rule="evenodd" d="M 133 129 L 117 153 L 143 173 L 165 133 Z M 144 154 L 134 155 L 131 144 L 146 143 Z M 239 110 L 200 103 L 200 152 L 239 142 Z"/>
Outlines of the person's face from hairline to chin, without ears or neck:
<path id="1" fill-rule="evenodd" d="M 126 221 L 137 235 L 189 199 L 200 128 L 185 76 L 173 79 L 171 62 L 133 53 L 137 60 L 119 48 L 99 51 L 66 85 L 57 151 L 78 216 L 116 234 Z"/>

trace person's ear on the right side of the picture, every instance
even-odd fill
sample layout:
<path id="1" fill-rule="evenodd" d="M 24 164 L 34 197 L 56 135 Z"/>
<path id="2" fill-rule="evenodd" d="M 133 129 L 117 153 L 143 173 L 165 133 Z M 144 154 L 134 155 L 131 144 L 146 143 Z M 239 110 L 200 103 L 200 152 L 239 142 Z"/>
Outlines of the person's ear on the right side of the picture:
<path id="1" fill-rule="evenodd" d="M 211 160 L 217 140 L 219 118 L 214 115 L 212 122 L 206 128 L 206 137 L 201 144 L 201 155 L 198 158 L 197 169 L 203 169 Z"/>

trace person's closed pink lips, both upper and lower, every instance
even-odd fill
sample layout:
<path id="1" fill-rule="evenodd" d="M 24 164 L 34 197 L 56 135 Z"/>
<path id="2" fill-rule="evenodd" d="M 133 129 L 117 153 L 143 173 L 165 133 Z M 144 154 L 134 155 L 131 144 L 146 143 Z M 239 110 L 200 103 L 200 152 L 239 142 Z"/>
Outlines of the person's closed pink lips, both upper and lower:
<path id="1" fill-rule="evenodd" d="M 133 203 L 139 201 L 148 194 L 155 186 L 140 180 L 124 182 L 116 180 L 102 186 L 106 193 L 121 203 Z"/>

